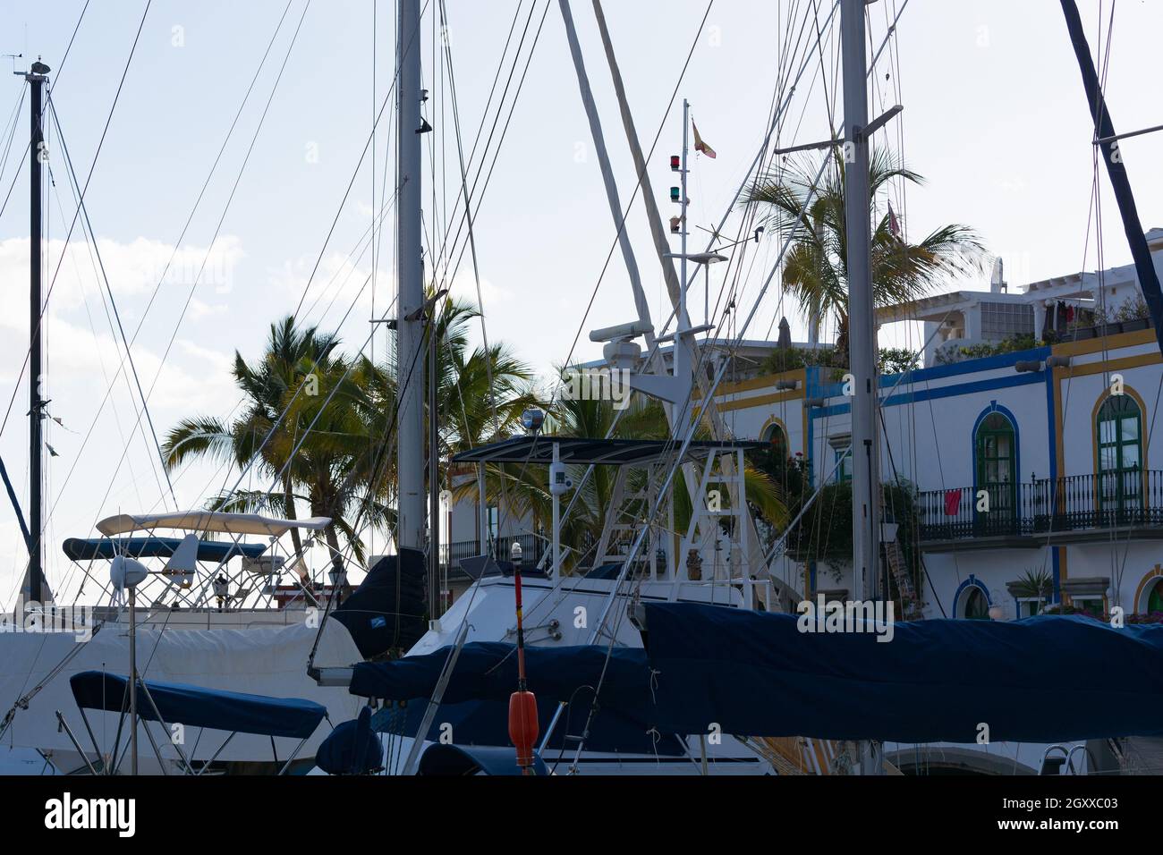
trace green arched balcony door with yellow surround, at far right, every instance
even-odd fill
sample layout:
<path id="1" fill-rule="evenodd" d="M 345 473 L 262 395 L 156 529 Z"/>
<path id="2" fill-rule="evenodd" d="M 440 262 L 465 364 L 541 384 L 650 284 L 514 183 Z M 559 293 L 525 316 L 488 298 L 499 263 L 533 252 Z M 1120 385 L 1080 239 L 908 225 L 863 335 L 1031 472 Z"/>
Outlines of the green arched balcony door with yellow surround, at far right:
<path id="1" fill-rule="evenodd" d="M 1129 394 L 1112 394 L 1098 411 L 1098 500 L 1103 511 L 1141 507 L 1143 414 Z"/>

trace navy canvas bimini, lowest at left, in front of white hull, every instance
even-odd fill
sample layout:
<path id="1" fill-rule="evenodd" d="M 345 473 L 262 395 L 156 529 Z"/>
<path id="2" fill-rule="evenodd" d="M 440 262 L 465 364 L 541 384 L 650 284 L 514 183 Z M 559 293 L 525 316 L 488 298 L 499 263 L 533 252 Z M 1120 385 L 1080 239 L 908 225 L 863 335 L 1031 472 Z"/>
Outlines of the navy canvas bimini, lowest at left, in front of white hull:
<path id="1" fill-rule="evenodd" d="M 77 706 L 84 710 L 119 713 L 129 707 L 129 681 L 121 675 L 81 671 L 70 677 L 69 684 Z M 144 693 L 137 696 L 137 714 L 167 725 L 306 739 L 327 715 L 327 707 L 301 698 L 269 698 L 141 679 L 137 685 L 149 690 L 149 697 Z M 156 712 L 150 698 L 157 705 Z"/>

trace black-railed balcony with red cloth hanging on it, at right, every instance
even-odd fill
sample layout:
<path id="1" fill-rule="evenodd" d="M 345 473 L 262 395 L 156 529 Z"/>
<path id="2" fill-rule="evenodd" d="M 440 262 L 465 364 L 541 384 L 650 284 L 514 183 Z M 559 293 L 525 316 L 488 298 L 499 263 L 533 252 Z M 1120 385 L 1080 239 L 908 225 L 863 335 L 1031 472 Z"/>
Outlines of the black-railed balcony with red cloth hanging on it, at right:
<path id="1" fill-rule="evenodd" d="M 978 511 L 985 498 L 989 511 Z M 926 551 L 1078 543 L 1112 529 L 1123 537 L 1163 539 L 1163 471 L 930 490 L 918 494 L 918 519 Z"/>

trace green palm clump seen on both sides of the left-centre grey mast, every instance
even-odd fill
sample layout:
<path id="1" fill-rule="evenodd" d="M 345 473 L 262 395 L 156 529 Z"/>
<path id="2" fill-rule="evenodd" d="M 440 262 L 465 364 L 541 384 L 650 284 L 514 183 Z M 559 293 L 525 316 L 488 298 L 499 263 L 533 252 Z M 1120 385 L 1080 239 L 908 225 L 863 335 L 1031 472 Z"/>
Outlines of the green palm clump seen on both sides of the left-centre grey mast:
<path id="1" fill-rule="evenodd" d="M 504 344 L 492 345 L 487 355 L 479 347 L 469 351 L 469 323 L 478 315 L 471 305 L 448 300 L 437 323 L 442 458 L 508 436 L 521 412 L 536 404 L 533 372 Z M 295 519 L 295 503 L 302 501 L 313 515 L 331 519 L 324 536 L 334 570 L 342 572 L 341 534 L 356 560 L 364 561 L 363 527 L 394 527 L 398 384 L 394 356 L 376 365 L 363 356 L 337 355 L 337 345 L 334 335 L 314 327 L 297 329 L 292 316 L 271 325 L 257 363 L 235 355 L 235 382 L 245 393 L 243 414 L 230 423 L 213 416 L 183 420 L 166 436 L 163 454 L 171 469 L 208 457 L 240 469 L 254 464 L 262 475 L 277 476 L 280 492 L 234 491 L 214 497 L 211 507 Z M 408 382 L 413 373 L 426 383 L 423 364 L 405 372 Z M 297 529 L 292 539 L 301 567 Z"/>

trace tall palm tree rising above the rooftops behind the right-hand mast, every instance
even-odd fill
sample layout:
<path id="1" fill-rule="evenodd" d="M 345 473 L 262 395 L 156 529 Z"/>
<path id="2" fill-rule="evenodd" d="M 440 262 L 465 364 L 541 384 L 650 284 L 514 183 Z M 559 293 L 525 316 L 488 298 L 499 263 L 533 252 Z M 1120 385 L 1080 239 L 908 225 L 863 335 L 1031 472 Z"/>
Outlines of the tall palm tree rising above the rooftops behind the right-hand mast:
<path id="1" fill-rule="evenodd" d="M 808 201 L 816 170 L 793 166 L 769 173 L 748 191 L 743 204 L 766 209 L 765 225 L 791 237 L 784 258 L 784 288 L 816 323 L 832 316 L 836 321 L 836 349 L 847 364 L 848 356 L 848 241 L 844 233 L 844 162 L 839 150 L 829 157 L 833 168 L 825 172 L 814 198 Z M 925 179 L 907 169 L 885 149 L 869 158 L 870 197 L 890 181 L 900 179 L 921 185 Z M 802 221 L 800 212 L 805 211 Z M 897 234 L 889 212 L 872 222 L 872 300 L 875 306 L 923 297 L 942 279 L 979 269 L 984 247 L 966 226 L 950 225 L 935 229 L 920 243 L 908 243 Z"/>

